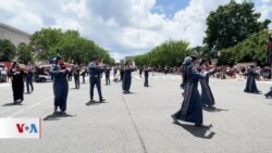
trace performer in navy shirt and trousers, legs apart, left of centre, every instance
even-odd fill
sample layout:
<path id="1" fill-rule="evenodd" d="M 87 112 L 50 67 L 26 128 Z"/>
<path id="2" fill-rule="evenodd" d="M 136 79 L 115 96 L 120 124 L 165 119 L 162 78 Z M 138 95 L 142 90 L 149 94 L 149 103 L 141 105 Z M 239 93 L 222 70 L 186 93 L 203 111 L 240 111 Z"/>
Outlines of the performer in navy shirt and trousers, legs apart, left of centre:
<path id="1" fill-rule="evenodd" d="M 98 58 L 95 58 L 94 61 L 90 62 L 88 66 L 89 66 L 89 84 L 90 84 L 90 102 L 95 102 L 94 88 L 96 86 L 99 95 L 99 102 L 102 103 L 106 101 L 101 92 L 101 77 L 100 77 L 103 69 L 101 69 L 99 66 Z"/>

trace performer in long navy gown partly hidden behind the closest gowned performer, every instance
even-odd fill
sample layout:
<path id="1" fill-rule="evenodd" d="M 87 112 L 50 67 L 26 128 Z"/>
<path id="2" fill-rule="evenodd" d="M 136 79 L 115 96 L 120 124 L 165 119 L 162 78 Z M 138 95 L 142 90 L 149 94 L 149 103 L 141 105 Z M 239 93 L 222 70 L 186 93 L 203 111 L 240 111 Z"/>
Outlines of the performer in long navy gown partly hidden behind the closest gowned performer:
<path id="1" fill-rule="evenodd" d="M 201 73 L 206 76 L 205 79 L 200 79 L 201 85 L 201 103 L 202 106 L 214 109 L 213 105 L 215 104 L 214 98 L 209 85 L 209 78 L 211 71 L 209 69 L 208 62 L 201 60 L 200 62 Z"/>

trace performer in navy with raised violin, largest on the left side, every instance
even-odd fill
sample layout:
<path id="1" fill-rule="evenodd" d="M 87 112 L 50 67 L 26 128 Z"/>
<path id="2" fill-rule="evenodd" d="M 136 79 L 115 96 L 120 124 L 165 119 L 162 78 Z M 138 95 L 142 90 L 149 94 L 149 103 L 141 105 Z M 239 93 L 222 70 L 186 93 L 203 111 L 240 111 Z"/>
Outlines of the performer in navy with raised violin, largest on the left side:
<path id="1" fill-rule="evenodd" d="M 55 63 L 52 64 L 50 73 L 53 77 L 54 112 L 60 109 L 61 113 L 66 111 L 66 101 L 69 94 L 67 75 L 71 69 L 58 55 Z"/>

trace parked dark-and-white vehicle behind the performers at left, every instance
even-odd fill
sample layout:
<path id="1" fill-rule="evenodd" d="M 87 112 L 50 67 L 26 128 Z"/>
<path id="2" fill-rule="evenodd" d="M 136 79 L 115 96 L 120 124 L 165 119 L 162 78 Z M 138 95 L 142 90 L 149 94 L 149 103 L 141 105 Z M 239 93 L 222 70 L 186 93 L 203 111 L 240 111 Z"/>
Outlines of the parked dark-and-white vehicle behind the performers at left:
<path id="1" fill-rule="evenodd" d="M 36 82 L 51 81 L 51 75 L 49 73 L 51 65 L 40 65 L 36 67 L 34 80 Z"/>

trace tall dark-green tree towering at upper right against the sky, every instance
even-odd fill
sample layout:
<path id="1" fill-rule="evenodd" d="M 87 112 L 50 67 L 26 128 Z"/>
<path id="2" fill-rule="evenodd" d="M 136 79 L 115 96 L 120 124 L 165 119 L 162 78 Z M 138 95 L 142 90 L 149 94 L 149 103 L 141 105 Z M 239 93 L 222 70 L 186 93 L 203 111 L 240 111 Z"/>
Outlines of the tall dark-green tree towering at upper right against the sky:
<path id="1" fill-rule="evenodd" d="M 269 20 L 259 22 L 261 14 L 255 12 L 252 2 L 237 3 L 235 0 L 210 12 L 203 42 L 208 50 L 234 47 L 248 36 L 268 28 Z"/>

